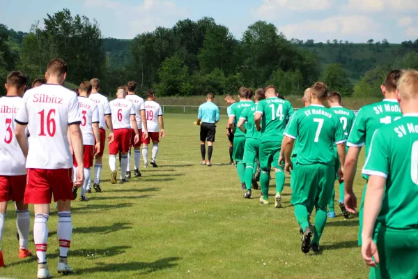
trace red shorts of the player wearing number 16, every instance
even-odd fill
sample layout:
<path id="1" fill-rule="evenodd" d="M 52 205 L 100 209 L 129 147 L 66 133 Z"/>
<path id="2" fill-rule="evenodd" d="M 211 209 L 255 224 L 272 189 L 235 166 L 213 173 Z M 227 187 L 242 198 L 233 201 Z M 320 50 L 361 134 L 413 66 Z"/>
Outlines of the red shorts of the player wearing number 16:
<path id="1" fill-rule="evenodd" d="M 28 169 L 28 182 L 24 192 L 25 204 L 50 204 L 52 194 L 54 202 L 74 200 L 72 195 L 71 169 Z"/>

